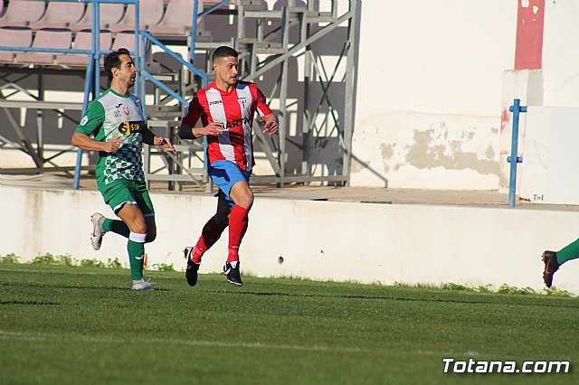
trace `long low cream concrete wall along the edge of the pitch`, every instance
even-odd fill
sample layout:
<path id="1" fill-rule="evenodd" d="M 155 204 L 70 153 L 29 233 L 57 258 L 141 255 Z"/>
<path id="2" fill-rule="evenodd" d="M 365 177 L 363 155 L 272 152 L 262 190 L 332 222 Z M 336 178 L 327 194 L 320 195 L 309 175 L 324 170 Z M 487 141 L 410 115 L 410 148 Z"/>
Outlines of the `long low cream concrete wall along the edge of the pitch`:
<path id="1" fill-rule="evenodd" d="M 0 196 L 0 255 L 127 260 L 126 240 L 115 234 L 105 235 L 100 251 L 90 248 L 90 214 L 110 216 L 99 192 L 0 186 Z M 158 236 L 146 248 L 149 264 L 185 268 L 182 249 L 196 241 L 215 199 L 177 193 L 153 193 L 152 199 Z M 576 211 L 258 198 L 242 243 L 242 272 L 540 290 L 542 251 L 564 247 L 576 238 L 576 228 Z M 205 254 L 202 272 L 221 270 L 226 243 L 223 237 Z M 556 273 L 555 286 L 579 294 L 578 278 L 579 265 L 570 262 Z"/>

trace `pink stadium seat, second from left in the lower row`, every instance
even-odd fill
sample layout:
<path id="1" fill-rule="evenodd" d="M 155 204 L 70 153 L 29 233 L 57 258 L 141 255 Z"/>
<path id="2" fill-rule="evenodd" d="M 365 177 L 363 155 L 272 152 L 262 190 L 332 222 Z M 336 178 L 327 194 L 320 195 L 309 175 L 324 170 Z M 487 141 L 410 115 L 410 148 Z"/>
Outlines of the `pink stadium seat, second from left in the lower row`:
<path id="1" fill-rule="evenodd" d="M 65 49 L 71 48 L 72 33 L 71 30 L 64 28 L 43 28 L 36 31 L 33 40 L 34 48 L 53 48 Z M 51 52 L 20 52 L 16 53 L 15 61 L 26 64 L 52 64 L 54 62 L 54 53 Z"/>

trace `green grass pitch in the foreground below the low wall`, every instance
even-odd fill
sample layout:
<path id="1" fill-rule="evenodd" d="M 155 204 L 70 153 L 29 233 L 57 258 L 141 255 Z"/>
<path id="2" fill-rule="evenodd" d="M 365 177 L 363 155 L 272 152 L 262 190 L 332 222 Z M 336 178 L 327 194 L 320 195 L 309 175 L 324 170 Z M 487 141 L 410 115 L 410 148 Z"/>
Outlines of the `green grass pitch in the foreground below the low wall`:
<path id="1" fill-rule="evenodd" d="M 2 384 L 579 383 L 579 299 L 0 264 Z M 442 358 L 571 361 L 444 374 Z"/>

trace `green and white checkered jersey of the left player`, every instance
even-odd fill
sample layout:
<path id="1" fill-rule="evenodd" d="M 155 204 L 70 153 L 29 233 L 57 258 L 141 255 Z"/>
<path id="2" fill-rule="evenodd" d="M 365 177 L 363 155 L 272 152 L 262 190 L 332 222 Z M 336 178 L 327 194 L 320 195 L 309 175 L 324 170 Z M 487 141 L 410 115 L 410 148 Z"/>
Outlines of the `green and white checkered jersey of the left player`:
<path id="1" fill-rule="evenodd" d="M 118 179 L 145 180 L 141 158 L 145 127 L 141 100 L 135 95 L 120 95 L 107 89 L 90 103 L 76 131 L 94 135 L 100 142 L 115 137 L 123 142 L 115 153 L 100 153 L 96 170 L 100 185 Z"/>

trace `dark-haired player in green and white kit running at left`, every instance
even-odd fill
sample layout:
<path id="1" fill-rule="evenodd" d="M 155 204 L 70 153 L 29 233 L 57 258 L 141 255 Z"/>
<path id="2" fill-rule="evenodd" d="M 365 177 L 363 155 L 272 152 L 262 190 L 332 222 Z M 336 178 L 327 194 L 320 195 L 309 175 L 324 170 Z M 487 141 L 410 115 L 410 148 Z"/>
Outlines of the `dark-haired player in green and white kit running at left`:
<path id="1" fill-rule="evenodd" d="M 128 260 L 134 290 L 153 290 L 143 278 L 145 243 L 157 237 L 155 211 L 147 192 L 141 159 L 142 143 L 175 152 L 167 137 L 156 136 L 143 117 L 141 100 L 128 93 L 137 78 L 137 68 L 125 48 L 104 58 L 110 88 L 90 103 L 81 124 L 72 134 L 72 145 L 84 151 L 99 151 L 96 174 L 99 191 L 119 220 L 92 214 L 92 248 L 100 249 L 107 231 L 128 238 Z M 94 136 L 91 138 L 90 136 Z"/>

